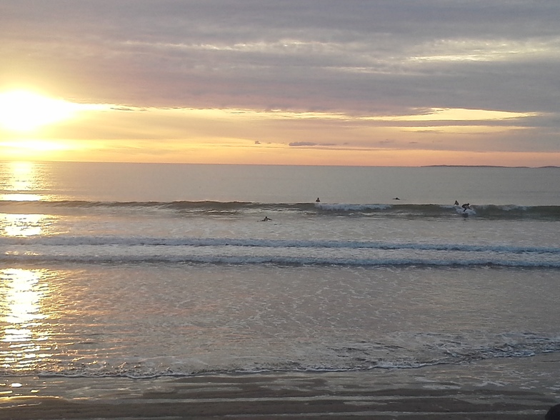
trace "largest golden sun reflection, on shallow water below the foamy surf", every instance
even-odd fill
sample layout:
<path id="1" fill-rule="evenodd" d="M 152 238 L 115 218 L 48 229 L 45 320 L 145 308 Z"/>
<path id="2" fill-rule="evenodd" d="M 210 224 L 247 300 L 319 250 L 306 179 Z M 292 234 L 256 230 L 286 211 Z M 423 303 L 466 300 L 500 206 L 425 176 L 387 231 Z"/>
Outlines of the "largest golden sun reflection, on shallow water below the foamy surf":
<path id="1" fill-rule="evenodd" d="M 52 354 L 43 300 L 49 293 L 46 270 L 0 270 L 0 368 L 35 369 Z"/>

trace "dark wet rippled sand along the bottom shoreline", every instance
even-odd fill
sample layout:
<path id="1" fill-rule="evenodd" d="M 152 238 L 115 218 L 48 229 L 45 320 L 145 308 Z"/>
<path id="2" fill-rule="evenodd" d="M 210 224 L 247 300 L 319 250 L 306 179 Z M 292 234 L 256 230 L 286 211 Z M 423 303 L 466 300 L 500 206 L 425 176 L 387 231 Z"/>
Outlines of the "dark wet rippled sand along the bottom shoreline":
<path id="1" fill-rule="evenodd" d="M 544 419 L 560 354 L 419 369 L 0 378 L 0 419 Z"/>

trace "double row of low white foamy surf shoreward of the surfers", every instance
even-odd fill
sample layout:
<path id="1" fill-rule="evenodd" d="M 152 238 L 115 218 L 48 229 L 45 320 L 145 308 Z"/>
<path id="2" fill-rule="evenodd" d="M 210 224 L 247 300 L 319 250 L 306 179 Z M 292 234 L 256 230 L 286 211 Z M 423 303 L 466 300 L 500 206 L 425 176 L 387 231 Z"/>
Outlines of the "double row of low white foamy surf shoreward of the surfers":
<path id="1" fill-rule="evenodd" d="M 560 268 L 560 248 L 421 242 L 154 238 L 1 237 L 0 261 L 86 264 L 190 263 Z"/>

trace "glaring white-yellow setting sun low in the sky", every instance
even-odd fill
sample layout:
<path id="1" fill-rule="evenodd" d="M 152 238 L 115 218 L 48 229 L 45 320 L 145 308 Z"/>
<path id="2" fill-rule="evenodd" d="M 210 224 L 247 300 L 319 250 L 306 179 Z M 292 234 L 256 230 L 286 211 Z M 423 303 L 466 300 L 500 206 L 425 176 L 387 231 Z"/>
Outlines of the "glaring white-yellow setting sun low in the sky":
<path id="1" fill-rule="evenodd" d="M 0 93 L 0 126 L 10 131 L 33 131 L 40 126 L 71 119 L 79 104 L 52 99 L 31 91 Z"/>

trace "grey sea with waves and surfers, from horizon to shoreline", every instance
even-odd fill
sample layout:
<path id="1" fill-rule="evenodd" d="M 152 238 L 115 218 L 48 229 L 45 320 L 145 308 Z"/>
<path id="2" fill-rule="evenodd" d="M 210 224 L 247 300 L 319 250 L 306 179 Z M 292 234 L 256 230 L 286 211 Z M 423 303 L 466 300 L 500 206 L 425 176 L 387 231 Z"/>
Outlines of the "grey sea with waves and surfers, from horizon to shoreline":
<path id="1" fill-rule="evenodd" d="M 0 375 L 560 351 L 559 181 L 558 168 L 4 162 Z"/>

